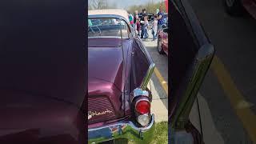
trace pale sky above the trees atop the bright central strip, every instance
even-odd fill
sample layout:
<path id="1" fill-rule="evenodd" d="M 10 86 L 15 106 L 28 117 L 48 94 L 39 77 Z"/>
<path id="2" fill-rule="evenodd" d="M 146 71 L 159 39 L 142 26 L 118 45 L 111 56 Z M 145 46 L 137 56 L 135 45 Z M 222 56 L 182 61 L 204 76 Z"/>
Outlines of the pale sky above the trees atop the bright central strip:
<path id="1" fill-rule="evenodd" d="M 91 0 L 89 0 L 91 1 Z M 164 0 L 107 0 L 109 3 L 116 3 L 118 8 L 127 8 L 132 5 L 141 5 L 146 2 L 163 2 Z"/>

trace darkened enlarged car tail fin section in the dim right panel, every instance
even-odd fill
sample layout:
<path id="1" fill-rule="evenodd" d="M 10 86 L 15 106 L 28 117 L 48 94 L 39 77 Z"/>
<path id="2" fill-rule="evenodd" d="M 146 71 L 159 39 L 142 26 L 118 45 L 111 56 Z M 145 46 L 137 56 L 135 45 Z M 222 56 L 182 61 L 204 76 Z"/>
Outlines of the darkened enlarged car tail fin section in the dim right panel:
<path id="1" fill-rule="evenodd" d="M 202 134 L 189 114 L 214 57 L 214 46 L 186 0 L 172 0 L 170 15 L 169 140 L 202 143 Z"/>

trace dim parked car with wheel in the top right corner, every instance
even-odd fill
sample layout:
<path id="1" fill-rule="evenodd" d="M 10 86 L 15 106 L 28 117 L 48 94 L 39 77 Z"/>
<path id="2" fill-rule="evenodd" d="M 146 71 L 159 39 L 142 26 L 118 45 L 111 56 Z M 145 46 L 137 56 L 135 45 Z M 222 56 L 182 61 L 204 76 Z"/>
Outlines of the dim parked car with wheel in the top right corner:
<path id="1" fill-rule="evenodd" d="M 226 11 L 231 15 L 240 15 L 243 10 L 256 19 L 256 0 L 224 0 Z"/>

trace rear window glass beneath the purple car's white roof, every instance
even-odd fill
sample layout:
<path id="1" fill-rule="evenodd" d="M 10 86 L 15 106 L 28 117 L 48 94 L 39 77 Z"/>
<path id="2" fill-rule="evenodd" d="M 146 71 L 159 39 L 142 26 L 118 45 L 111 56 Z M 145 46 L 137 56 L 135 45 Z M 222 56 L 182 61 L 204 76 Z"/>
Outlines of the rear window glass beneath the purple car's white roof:
<path id="1" fill-rule="evenodd" d="M 127 23 L 119 18 L 89 18 L 88 37 L 129 38 Z"/>

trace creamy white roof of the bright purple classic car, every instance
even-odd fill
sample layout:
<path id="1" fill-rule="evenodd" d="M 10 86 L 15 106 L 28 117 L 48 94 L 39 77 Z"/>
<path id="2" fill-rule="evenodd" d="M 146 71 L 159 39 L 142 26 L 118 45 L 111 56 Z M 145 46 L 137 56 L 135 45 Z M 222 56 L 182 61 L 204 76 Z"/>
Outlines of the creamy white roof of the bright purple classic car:
<path id="1" fill-rule="evenodd" d="M 130 22 L 128 18 L 128 13 L 126 10 L 122 9 L 104 9 L 104 10 L 88 10 L 88 15 L 119 15 L 126 18 L 127 22 Z"/>

